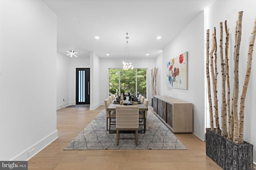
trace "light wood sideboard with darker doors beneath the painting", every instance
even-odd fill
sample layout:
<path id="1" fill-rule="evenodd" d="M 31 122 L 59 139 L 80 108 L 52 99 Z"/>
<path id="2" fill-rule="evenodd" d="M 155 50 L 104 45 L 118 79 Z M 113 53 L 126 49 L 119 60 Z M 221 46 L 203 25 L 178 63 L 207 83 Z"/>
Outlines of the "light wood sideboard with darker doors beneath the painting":
<path id="1" fill-rule="evenodd" d="M 193 132 L 193 104 L 175 98 L 154 96 L 154 112 L 174 133 Z"/>

